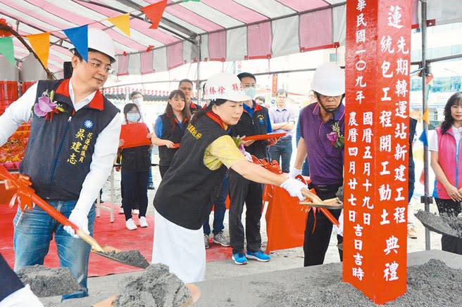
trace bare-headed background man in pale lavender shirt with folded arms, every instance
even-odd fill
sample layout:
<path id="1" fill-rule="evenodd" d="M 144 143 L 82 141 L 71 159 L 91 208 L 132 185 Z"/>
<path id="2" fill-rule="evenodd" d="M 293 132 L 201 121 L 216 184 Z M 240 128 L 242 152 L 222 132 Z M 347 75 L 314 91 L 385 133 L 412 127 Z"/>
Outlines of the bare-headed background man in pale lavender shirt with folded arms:
<path id="1" fill-rule="evenodd" d="M 273 133 L 287 133 L 268 150 L 271 160 L 280 162 L 284 173 L 289 173 L 290 157 L 292 157 L 292 129 L 295 124 L 295 112 L 287 107 L 287 91 L 280 89 L 276 93 L 276 106 L 270 108 L 269 115 Z"/>

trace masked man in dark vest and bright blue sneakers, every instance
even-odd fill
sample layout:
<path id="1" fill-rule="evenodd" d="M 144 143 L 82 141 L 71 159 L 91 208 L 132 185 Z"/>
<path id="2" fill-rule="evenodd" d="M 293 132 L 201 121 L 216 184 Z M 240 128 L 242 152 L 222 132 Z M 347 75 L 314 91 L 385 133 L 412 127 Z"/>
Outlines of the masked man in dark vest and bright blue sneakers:
<path id="1" fill-rule="evenodd" d="M 256 96 L 256 78 L 254 74 L 242 72 L 237 77 L 247 96 Z M 271 129 L 268 109 L 255 103 L 254 100 L 244 101 L 244 112 L 235 126 L 231 127 L 231 136 L 254 136 L 266 134 Z M 258 159 L 266 158 L 267 141 L 243 141 L 246 152 Z M 230 243 L 232 260 L 236 264 L 246 264 L 247 259 L 270 261 L 270 256 L 261 251 L 260 218 L 263 206 L 263 185 L 249 181 L 236 171 L 230 169 L 228 177 L 230 192 Z M 247 251 L 244 253 L 244 226 L 242 226 L 242 211 L 246 204 L 245 237 Z"/>

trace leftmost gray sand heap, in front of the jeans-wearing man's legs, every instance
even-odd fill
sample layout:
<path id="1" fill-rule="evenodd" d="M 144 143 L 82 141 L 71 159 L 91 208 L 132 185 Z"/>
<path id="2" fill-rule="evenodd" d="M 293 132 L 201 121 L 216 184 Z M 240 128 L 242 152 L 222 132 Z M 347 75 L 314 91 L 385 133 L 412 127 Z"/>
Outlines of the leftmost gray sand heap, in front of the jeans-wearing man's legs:
<path id="1" fill-rule="evenodd" d="M 26 266 L 18 272 L 24 285 L 39 297 L 56 296 L 76 292 L 80 285 L 68 268 L 46 268 L 36 264 Z"/>

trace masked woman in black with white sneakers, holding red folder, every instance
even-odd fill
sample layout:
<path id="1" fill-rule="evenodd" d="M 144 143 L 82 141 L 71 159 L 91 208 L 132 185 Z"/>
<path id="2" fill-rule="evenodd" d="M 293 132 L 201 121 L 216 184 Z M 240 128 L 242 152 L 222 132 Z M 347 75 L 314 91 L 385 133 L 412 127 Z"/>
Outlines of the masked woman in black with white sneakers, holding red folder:
<path id="1" fill-rule="evenodd" d="M 127 124 L 137 124 L 141 119 L 141 114 L 135 103 L 127 103 L 123 108 L 123 114 Z M 146 137 L 149 138 L 149 134 Z M 119 147 L 124 143 L 125 141 L 120 139 Z M 137 229 L 135 221 L 133 221 L 132 218 L 132 200 L 134 199 L 139 202 L 139 226 L 142 228 L 148 227 L 146 209 L 148 207 L 148 174 L 149 167 L 151 167 L 149 147 L 149 145 L 143 145 L 124 148 L 120 151 L 119 159 L 123 181 L 122 207 L 125 214 L 125 227 L 127 227 L 128 230 Z"/>

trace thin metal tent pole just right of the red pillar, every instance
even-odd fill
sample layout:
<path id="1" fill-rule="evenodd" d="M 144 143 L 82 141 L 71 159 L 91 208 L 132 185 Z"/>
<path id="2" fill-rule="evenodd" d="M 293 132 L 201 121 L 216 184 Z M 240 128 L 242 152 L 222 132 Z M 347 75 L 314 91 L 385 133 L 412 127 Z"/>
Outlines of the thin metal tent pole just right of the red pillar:
<path id="1" fill-rule="evenodd" d="M 420 20 L 420 29 L 422 30 L 422 67 L 423 67 L 423 73 L 422 73 L 422 110 L 423 113 L 425 114 L 425 111 L 428 108 L 427 104 L 427 75 L 429 73 L 428 67 L 427 67 L 427 0 L 420 0 L 422 6 L 421 6 L 421 14 L 422 18 Z M 423 124 L 423 133 L 425 133 L 425 139 L 428 140 L 428 122 L 425 122 L 425 120 L 422 121 Z M 420 200 L 420 202 L 423 202 L 425 211 L 429 212 L 430 211 L 430 202 L 431 202 L 431 197 L 429 197 L 429 183 L 428 183 L 428 142 L 423 145 L 423 176 L 424 176 L 424 195 L 423 195 L 423 200 Z M 425 250 L 430 250 L 430 230 L 428 228 L 425 228 Z"/>

